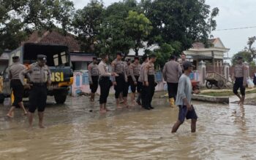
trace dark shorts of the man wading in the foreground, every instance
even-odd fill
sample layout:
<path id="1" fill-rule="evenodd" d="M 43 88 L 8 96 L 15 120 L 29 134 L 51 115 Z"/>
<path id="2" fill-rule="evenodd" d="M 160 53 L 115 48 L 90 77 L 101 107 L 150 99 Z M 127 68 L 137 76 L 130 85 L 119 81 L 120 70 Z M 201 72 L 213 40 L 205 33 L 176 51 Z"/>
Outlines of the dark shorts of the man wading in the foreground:
<path id="1" fill-rule="evenodd" d="M 178 111 L 178 121 L 181 121 L 183 123 L 186 119 L 197 119 L 197 113 L 195 113 L 195 108 L 192 105 L 192 111 L 187 110 L 186 105 L 178 105 L 179 111 Z"/>

